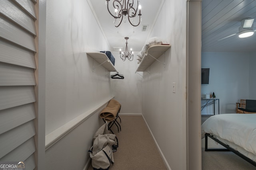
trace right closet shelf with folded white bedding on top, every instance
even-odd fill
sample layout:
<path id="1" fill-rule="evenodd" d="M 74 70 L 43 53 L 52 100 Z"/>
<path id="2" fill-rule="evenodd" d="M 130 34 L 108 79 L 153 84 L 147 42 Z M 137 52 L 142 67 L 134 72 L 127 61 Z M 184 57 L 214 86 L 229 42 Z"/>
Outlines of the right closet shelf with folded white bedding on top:
<path id="1" fill-rule="evenodd" d="M 136 72 L 145 71 L 154 61 L 156 61 L 171 45 L 154 45 L 148 48 Z"/>

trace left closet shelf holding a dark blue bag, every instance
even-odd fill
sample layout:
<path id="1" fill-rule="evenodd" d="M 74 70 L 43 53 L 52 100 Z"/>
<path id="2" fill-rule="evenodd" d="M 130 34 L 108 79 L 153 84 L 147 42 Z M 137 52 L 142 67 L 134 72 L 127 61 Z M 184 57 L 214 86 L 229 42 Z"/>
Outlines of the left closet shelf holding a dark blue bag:
<path id="1" fill-rule="evenodd" d="M 101 53 L 101 52 L 87 52 L 86 54 L 88 54 L 90 57 L 92 57 L 95 61 L 97 61 L 100 65 L 102 65 L 108 71 L 110 71 L 110 72 L 116 71 L 117 72 L 116 68 L 111 63 L 110 59 L 108 59 L 108 56 L 105 53 Z M 94 69 L 94 68 L 95 67 L 93 66 L 92 69 Z"/>

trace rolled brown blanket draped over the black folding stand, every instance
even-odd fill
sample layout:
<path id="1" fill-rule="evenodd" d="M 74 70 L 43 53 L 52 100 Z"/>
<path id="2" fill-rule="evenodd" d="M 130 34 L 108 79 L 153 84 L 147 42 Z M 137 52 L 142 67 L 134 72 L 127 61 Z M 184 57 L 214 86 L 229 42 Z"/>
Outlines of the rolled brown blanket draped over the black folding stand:
<path id="1" fill-rule="evenodd" d="M 105 119 L 106 121 L 113 121 L 121 107 L 121 104 L 111 99 L 107 106 L 100 112 L 100 118 Z"/>

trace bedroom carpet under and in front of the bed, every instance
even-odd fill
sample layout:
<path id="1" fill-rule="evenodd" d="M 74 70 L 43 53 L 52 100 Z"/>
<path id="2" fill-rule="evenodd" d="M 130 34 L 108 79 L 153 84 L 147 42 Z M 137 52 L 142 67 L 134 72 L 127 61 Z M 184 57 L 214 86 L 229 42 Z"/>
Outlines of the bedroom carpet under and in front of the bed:
<path id="1" fill-rule="evenodd" d="M 208 138 L 208 148 L 224 147 Z M 202 170 L 256 170 L 256 167 L 230 151 L 205 152 L 202 139 Z"/>

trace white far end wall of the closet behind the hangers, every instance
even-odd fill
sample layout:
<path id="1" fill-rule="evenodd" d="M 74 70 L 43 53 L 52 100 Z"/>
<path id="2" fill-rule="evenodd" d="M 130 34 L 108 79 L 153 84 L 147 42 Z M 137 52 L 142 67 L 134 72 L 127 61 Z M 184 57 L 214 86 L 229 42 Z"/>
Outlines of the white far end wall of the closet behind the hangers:
<path id="1" fill-rule="evenodd" d="M 120 113 L 142 113 L 142 89 L 140 84 L 142 77 L 135 73 L 138 67 L 135 55 L 137 53 L 134 52 L 133 61 L 128 59 L 122 61 L 119 52 L 112 52 L 115 57 L 116 70 L 119 74 L 124 75 L 124 79 L 110 80 L 115 99 L 121 104 Z M 116 74 L 116 72 L 111 72 L 112 74 Z"/>

